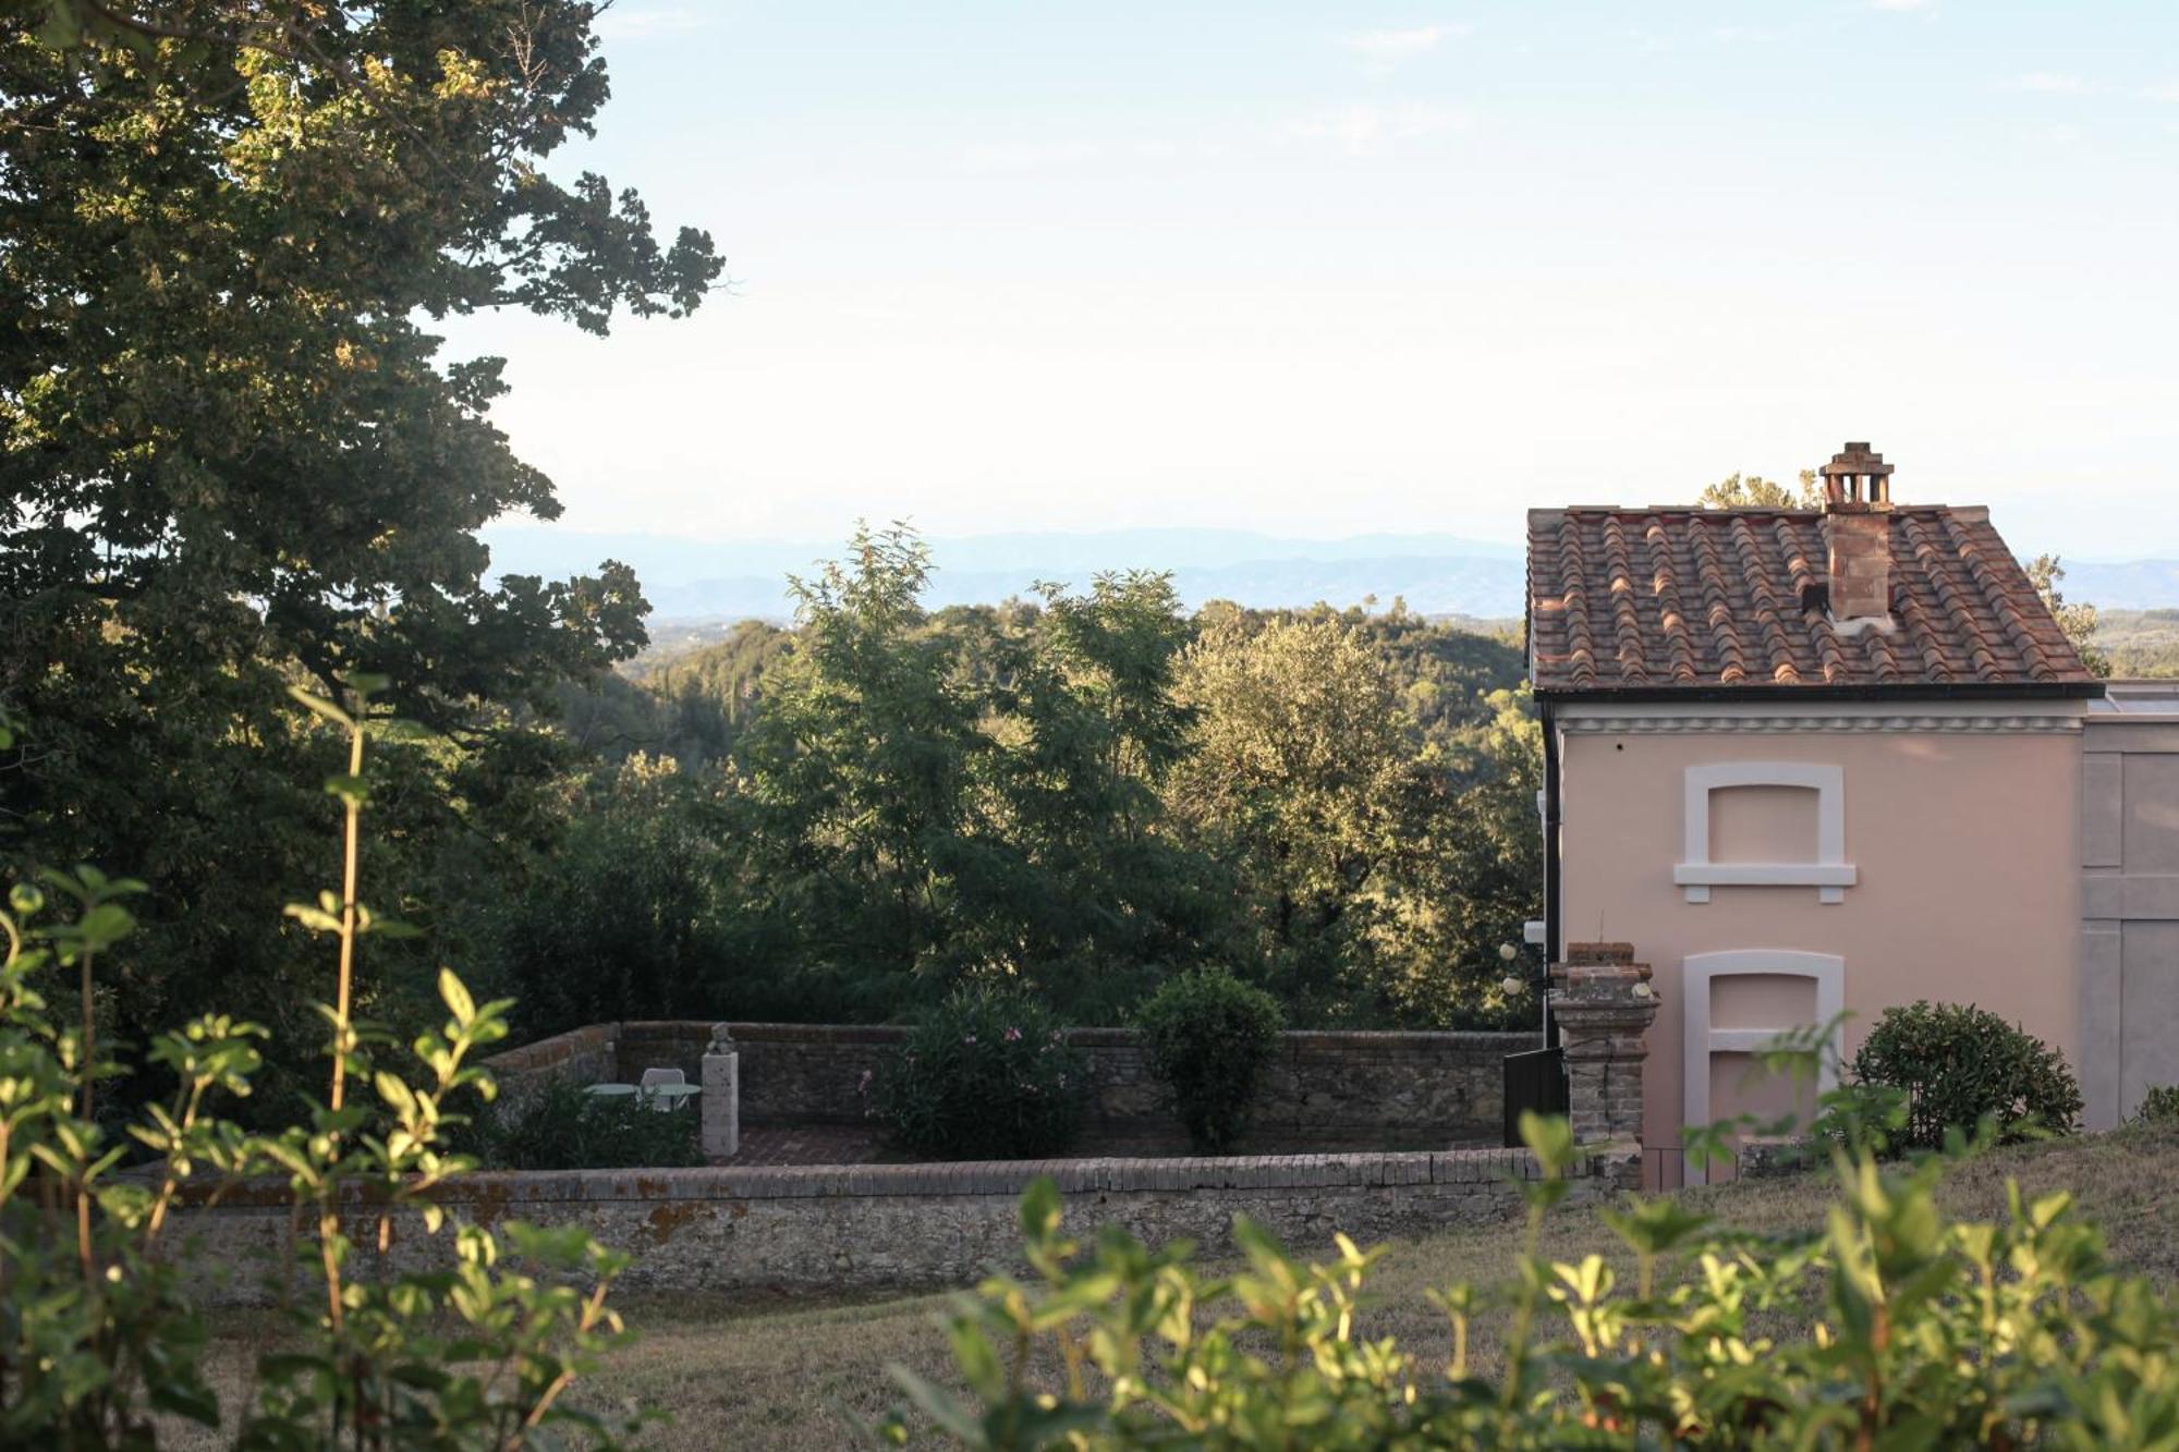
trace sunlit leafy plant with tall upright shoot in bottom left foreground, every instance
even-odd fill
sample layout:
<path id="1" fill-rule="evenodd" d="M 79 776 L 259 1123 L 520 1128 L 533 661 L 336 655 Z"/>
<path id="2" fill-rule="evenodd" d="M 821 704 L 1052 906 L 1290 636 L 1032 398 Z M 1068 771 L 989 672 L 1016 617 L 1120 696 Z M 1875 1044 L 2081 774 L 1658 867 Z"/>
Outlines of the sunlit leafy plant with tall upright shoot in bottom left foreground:
<path id="1" fill-rule="evenodd" d="M 224 1421 L 248 1452 L 285 1448 L 468 1450 L 588 1437 L 614 1428 L 562 1393 L 621 1334 L 606 1306 L 625 1265 L 580 1227 L 503 1225 L 495 1236 L 455 1225 L 436 1190 L 471 1169 L 449 1129 L 490 1079 L 471 1062 L 506 1036 L 506 1003 L 473 1003 L 440 972 L 445 1020 L 388 1053 L 388 1038 L 353 1014 L 366 935 L 405 929 L 357 896 L 360 820 L 368 802 L 364 741 L 379 728 L 351 682 L 349 706 L 301 698 L 349 735 L 349 770 L 327 781 L 342 802 L 342 879 L 316 903 L 290 907 L 336 940 L 327 1025 L 329 1094 L 305 1125 L 248 1134 L 216 1114 L 251 1092 L 266 1031 L 207 1014 L 150 1044 L 174 1084 L 115 1136 L 92 1116 L 98 1079 L 124 1066 L 96 1038 L 96 961 L 129 937 L 120 898 L 142 883 L 92 868 L 17 885 L 0 913 L 0 1445 L 153 1448 L 155 1417 L 222 1428 L 203 1374 L 196 1284 L 183 1273 L 179 1223 L 190 1206 L 253 1173 L 283 1175 L 299 1236 L 294 1267 L 266 1267 L 281 1286 L 281 1332 L 257 1358 L 253 1395 Z M 48 916 L 50 903 L 72 911 Z M 74 1023 L 48 1007 L 46 979 L 74 970 Z M 360 1092 L 357 1092 L 360 1090 Z M 120 1173 L 135 1149 L 148 1173 Z M 388 1247 L 421 1225 L 445 1236 L 440 1265 L 373 1267 L 360 1245 Z M 506 1258 L 534 1267 L 514 1269 Z M 312 1286 L 290 1295 L 296 1284 Z"/>

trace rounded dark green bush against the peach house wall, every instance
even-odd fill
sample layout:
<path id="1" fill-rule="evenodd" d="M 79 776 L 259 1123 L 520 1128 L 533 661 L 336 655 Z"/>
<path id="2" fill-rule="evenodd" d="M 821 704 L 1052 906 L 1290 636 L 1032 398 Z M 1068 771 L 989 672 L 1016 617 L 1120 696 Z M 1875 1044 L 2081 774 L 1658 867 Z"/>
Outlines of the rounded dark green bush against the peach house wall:
<path id="1" fill-rule="evenodd" d="M 2081 1118 L 2081 1084 L 2064 1055 L 1972 1003 L 1889 1007 L 1854 1053 L 1861 1084 L 1907 1094 L 1902 1147 L 1935 1149 L 1946 1129 L 1972 1134 L 1983 1116 L 1998 1138 L 2031 1127 L 2068 1134 Z"/>

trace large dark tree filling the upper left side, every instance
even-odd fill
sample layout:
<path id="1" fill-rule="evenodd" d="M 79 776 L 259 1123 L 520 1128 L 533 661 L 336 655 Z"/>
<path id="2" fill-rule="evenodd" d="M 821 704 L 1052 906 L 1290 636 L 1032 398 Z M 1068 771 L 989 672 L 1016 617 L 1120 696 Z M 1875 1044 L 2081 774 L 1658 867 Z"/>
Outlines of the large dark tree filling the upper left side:
<path id="1" fill-rule="evenodd" d="M 643 641 L 619 565 L 486 580 L 475 530 L 558 506 L 488 419 L 501 362 L 427 331 L 484 307 L 604 331 L 717 277 L 702 233 L 660 242 L 634 194 L 547 170 L 606 100 L 591 20 L 0 9 L 0 702 L 31 722 L 0 759 L 0 852 L 155 885 L 102 988 L 126 1038 L 238 992 L 264 1018 L 301 1001 L 292 931 L 259 924 L 322 846 L 296 783 L 342 748 L 283 682 L 384 671 L 442 733 L 388 761 L 418 789 L 375 852 L 410 896 L 501 826 L 445 807 L 455 778 L 545 750 L 492 702 Z"/>

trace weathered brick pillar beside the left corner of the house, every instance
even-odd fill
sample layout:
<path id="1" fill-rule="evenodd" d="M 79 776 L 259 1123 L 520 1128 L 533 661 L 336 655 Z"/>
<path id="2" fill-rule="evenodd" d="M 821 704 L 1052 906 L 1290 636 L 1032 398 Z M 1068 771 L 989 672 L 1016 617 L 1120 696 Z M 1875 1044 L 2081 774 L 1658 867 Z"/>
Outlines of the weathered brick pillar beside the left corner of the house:
<path id="1" fill-rule="evenodd" d="M 1641 1184 L 1643 1060 L 1656 992 L 1634 948 L 1569 944 L 1551 966 L 1551 1020 L 1567 1051 L 1567 1116 L 1573 1138 L 1595 1147 L 1623 1184 Z"/>

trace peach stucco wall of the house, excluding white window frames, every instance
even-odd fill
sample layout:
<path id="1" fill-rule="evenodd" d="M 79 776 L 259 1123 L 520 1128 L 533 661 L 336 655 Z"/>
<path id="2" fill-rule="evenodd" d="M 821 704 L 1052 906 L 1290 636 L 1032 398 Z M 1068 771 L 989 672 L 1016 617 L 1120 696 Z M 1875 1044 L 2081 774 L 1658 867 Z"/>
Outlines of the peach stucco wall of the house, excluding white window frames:
<path id="1" fill-rule="evenodd" d="M 1684 900 L 1671 881 L 1684 772 L 1724 761 L 1843 767 L 1846 861 L 1859 870 L 1843 903 L 1819 903 L 1815 887 L 1713 887 L 1708 903 Z M 1632 942 L 1663 994 L 1643 1081 L 1647 1145 L 1678 1145 L 1680 961 L 1691 953 L 1843 957 L 1848 1053 L 1883 1007 L 1933 999 L 1979 1003 L 2079 1057 L 2077 735 L 1565 733 L 1560 783 L 1560 931 L 1567 942 Z M 1758 798 L 1750 807 L 1767 850 L 1782 818 Z M 1728 839 L 1719 833 L 1713 857 L 1750 861 Z M 1752 846 L 1745 833 L 1739 842 Z M 1765 996 L 1776 994 L 1719 985 L 1713 1027 L 1734 1027 Z"/>

